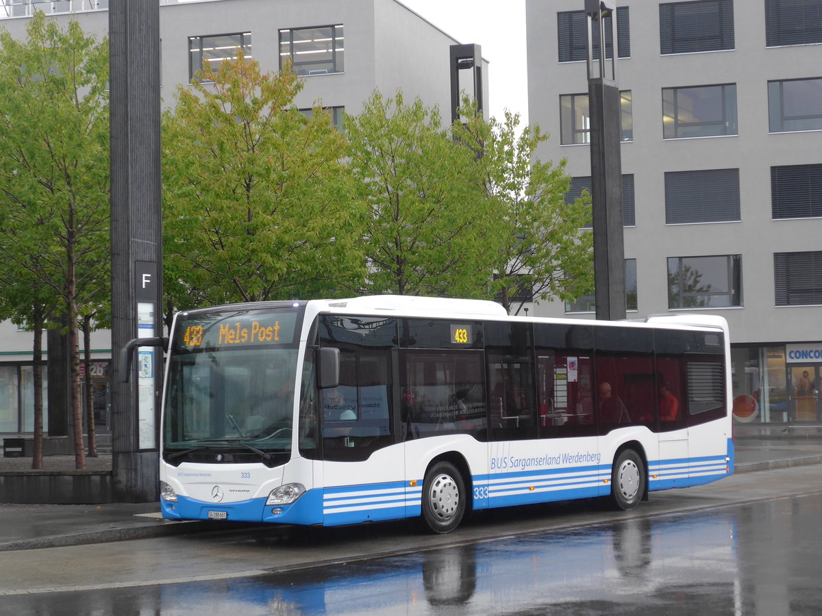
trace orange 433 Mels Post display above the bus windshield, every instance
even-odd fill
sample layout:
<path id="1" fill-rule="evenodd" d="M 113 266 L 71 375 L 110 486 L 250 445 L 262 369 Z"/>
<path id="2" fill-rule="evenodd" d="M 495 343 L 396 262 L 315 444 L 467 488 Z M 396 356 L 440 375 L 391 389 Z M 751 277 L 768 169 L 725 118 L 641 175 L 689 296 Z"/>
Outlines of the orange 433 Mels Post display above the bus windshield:
<path id="1" fill-rule="evenodd" d="M 174 346 L 182 349 L 254 347 L 294 342 L 297 312 L 243 310 L 194 315 L 178 321 Z"/>

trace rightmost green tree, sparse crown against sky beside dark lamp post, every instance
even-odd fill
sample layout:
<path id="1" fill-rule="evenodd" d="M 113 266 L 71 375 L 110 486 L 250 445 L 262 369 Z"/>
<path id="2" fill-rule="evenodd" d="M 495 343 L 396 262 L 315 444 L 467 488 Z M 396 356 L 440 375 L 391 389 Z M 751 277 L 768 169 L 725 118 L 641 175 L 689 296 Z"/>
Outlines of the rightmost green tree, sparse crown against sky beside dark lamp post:
<path id="1" fill-rule="evenodd" d="M 520 130 L 519 114 L 486 120 L 465 100 L 462 115 L 468 120 L 455 125 L 455 135 L 475 154 L 496 230 L 489 295 L 519 314 L 530 292 L 537 302 L 593 292 L 593 238 L 580 232 L 590 218 L 590 197 L 566 204 L 566 160 L 536 159 L 548 136 L 538 126 Z"/>

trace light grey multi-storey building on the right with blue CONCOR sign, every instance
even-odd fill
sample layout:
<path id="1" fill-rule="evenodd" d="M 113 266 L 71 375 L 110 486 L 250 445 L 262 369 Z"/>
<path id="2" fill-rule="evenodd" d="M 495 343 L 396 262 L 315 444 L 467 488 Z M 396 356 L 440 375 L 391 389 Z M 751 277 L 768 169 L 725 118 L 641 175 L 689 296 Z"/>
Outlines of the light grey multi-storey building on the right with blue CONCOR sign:
<path id="1" fill-rule="evenodd" d="M 584 1 L 526 15 L 538 155 L 568 160 L 573 196 L 590 186 Z M 822 0 L 617 0 L 617 32 L 628 318 L 723 315 L 737 421 L 820 423 Z M 593 298 L 534 310 L 593 316 Z"/>

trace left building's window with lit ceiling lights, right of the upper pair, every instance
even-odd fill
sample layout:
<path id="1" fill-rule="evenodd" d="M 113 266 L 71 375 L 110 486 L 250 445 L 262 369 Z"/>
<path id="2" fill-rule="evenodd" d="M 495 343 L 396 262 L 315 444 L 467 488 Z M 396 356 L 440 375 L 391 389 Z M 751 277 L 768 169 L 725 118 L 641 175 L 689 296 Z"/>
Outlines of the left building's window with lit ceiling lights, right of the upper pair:
<path id="1" fill-rule="evenodd" d="M 327 75 L 344 72 L 342 25 L 279 30 L 279 67 L 291 61 L 298 75 Z"/>

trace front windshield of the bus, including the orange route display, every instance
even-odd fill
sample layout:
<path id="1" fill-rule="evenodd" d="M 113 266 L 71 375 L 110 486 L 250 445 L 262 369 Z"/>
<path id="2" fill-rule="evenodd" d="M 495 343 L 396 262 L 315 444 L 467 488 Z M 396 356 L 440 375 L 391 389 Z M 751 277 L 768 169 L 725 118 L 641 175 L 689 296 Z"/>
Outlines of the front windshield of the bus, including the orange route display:
<path id="1" fill-rule="evenodd" d="M 269 308 L 178 318 L 166 393 L 167 459 L 229 449 L 266 459 L 290 452 L 299 317 L 297 310 Z"/>

